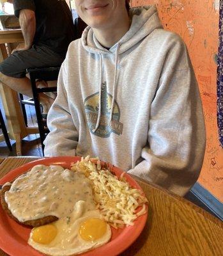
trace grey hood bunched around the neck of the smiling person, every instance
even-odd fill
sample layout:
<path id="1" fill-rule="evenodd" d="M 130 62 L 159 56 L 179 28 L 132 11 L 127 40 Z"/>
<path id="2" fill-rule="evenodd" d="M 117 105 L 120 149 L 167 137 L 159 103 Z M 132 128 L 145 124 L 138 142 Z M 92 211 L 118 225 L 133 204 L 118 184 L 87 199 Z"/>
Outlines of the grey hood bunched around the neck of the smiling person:
<path id="1" fill-rule="evenodd" d="M 96 40 L 93 29 L 88 26 L 81 38 L 84 49 L 95 54 L 107 54 L 108 52 L 114 53 L 119 44 L 118 54 L 122 54 L 150 35 L 154 29 L 162 28 L 156 6 L 131 8 L 130 19 L 132 20 L 130 29 L 109 51 L 100 45 L 98 40 Z"/>

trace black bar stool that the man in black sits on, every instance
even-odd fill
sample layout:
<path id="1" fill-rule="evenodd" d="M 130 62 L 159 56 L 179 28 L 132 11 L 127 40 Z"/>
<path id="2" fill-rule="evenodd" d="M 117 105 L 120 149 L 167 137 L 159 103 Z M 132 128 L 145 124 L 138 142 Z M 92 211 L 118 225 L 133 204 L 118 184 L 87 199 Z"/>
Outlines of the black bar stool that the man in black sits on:
<path id="1" fill-rule="evenodd" d="M 42 106 L 40 104 L 40 100 L 38 97 L 38 93 L 43 92 L 56 92 L 57 87 L 45 87 L 45 88 L 37 88 L 36 87 L 36 80 L 43 80 L 43 81 L 55 81 L 58 80 L 60 67 L 44 67 L 44 68 L 27 68 L 27 73 L 29 73 L 29 77 L 31 79 L 31 85 L 33 90 L 33 101 L 35 103 L 35 110 L 36 110 L 36 119 L 38 124 L 38 129 L 40 131 L 40 141 L 42 145 L 42 150 L 44 150 L 43 141 L 45 137 L 49 133 L 49 129 L 43 122 L 42 118 Z M 44 153 L 43 153 L 44 154 Z"/>

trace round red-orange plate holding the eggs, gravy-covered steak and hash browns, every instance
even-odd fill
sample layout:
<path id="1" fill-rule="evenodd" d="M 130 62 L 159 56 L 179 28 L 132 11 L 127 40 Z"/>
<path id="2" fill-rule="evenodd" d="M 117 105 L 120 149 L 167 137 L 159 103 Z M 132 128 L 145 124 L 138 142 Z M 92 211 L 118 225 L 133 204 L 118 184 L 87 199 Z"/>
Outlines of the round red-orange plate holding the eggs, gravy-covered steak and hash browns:
<path id="1" fill-rule="evenodd" d="M 80 160 L 80 157 L 47 157 L 40 160 L 36 160 L 27 164 L 16 168 L 15 170 L 7 173 L 1 180 L 0 184 L 4 184 L 5 182 L 11 181 L 15 179 L 15 177 L 21 175 L 24 172 L 30 170 L 36 164 L 58 164 L 63 166 L 64 168 L 70 168 L 71 163 L 75 163 Z M 117 167 L 113 167 L 112 171 L 116 173 L 116 176 L 120 176 L 123 173 Z M 132 177 L 128 174 L 125 174 L 128 183 L 137 189 L 141 189 L 139 184 L 135 182 Z M 123 229 L 114 229 L 112 228 L 112 238 L 111 241 L 99 248 L 95 248 L 92 251 L 82 253 L 79 255 L 82 256 L 98 256 L 98 255 L 106 255 L 106 256 L 114 256 L 123 252 L 125 249 L 132 244 L 135 239 L 141 234 L 144 225 L 146 224 L 147 219 L 147 207 L 146 214 L 140 216 L 135 220 L 133 226 L 125 227 Z M 42 253 L 37 252 L 33 249 L 29 244 L 27 244 L 27 240 L 29 238 L 29 233 L 31 228 L 25 227 L 24 225 L 20 225 L 19 223 L 13 221 L 8 215 L 3 211 L 0 204 L 0 248 L 12 256 L 40 256 Z"/>

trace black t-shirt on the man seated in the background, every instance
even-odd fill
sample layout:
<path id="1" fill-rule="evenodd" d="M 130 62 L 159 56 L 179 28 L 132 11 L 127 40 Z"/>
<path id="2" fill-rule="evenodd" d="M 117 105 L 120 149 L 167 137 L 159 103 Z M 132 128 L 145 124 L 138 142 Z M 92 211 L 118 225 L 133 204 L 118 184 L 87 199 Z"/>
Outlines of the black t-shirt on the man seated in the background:
<path id="1" fill-rule="evenodd" d="M 35 12 L 36 33 L 33 44 L 45 45 L 61 55 L 75 39 L 72 13 L 65 0 L 14 0 L 15 16 L 22 9 Z"/>

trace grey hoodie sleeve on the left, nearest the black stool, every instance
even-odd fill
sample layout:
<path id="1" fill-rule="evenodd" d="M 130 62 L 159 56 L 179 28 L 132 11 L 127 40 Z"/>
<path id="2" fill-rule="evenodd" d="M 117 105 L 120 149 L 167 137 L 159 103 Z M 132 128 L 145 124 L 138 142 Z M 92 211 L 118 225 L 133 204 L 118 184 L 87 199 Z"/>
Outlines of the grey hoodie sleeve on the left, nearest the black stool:
<path id="1" fill-rule="evenodd" d="M 75 148 L 77 148 L 79 134 L 73 124 L 68 106 L 64 65 L 65 62 L 61 66 L 58 77 L 58 97 L 47 116 L 47 126 L 50 132 L 44 141 L 45 156 L 75 156 Z"/>

